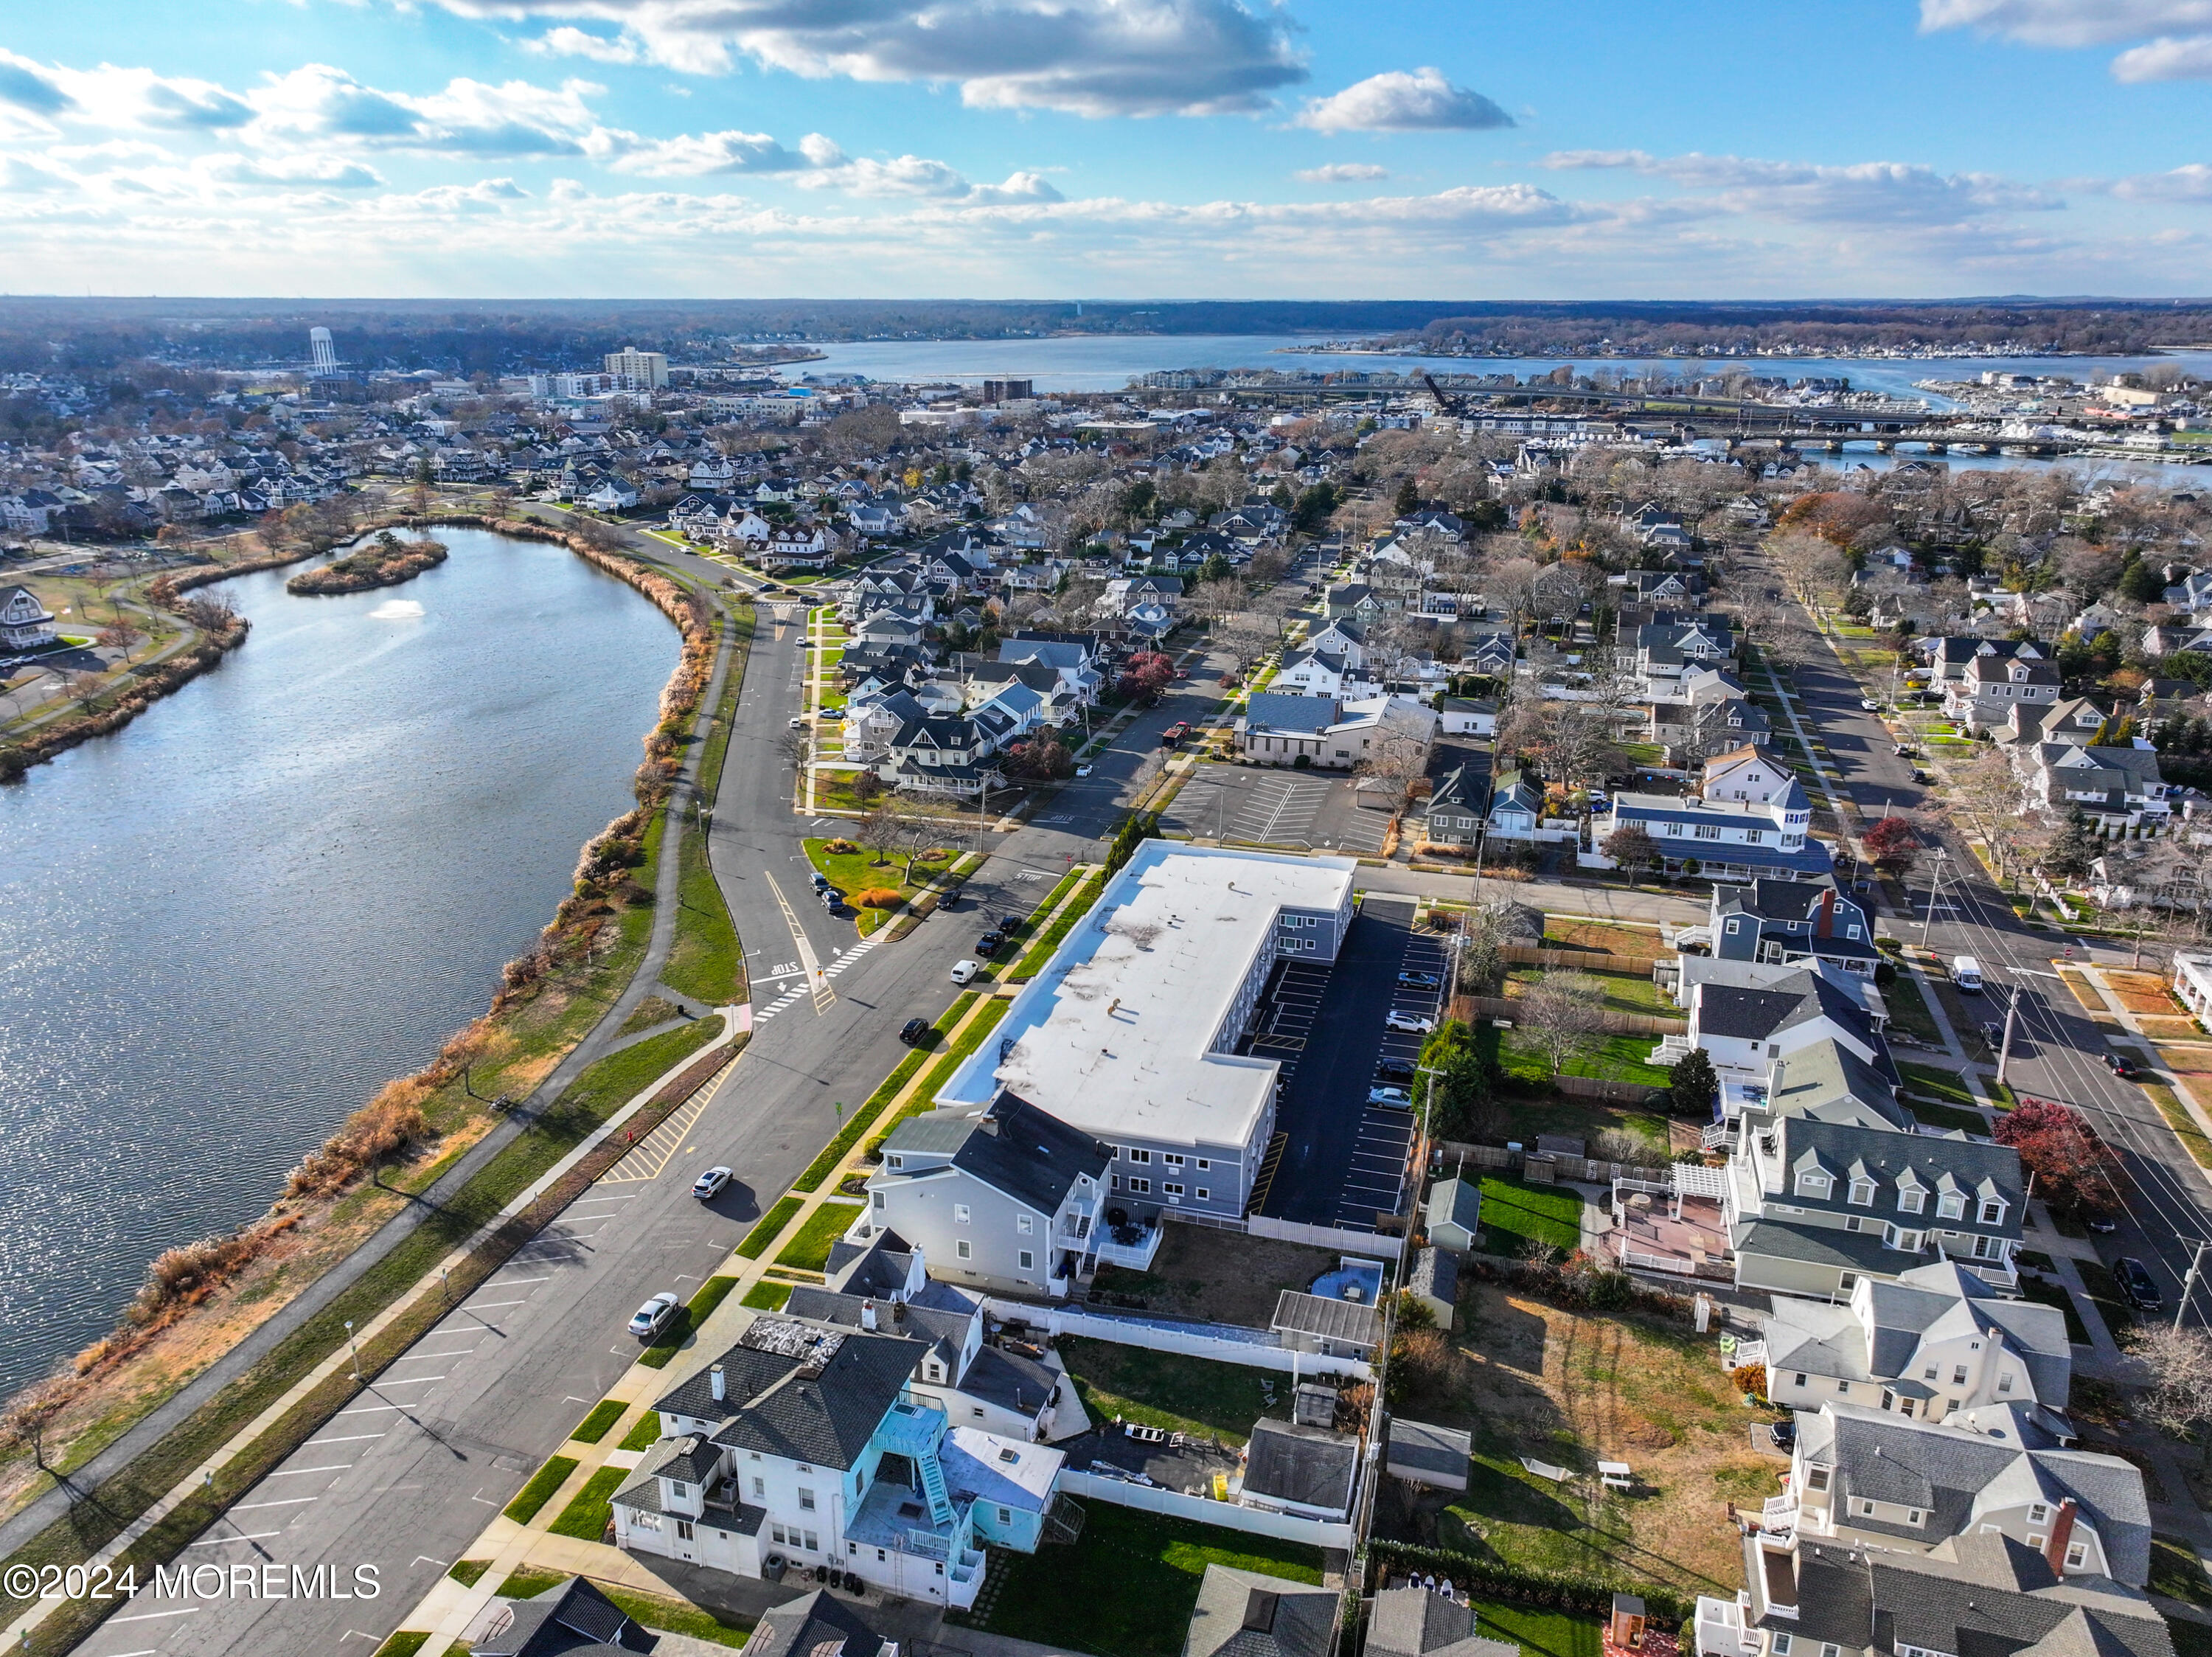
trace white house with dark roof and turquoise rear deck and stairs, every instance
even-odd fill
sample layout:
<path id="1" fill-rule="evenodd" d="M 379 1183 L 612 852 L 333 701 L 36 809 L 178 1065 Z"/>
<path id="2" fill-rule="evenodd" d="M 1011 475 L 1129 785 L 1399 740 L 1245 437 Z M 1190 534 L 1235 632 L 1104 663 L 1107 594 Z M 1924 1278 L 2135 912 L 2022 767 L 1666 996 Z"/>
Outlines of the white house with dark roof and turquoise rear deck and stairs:
<path id="1" fill-rule="evenodd" d="M 931 1341 L 759 1316 L 657 1400 L 659 1440 L 613 1498 L 615 1540 L 745 1577 L 858 1573 L 964 1608 L 984 1546 L 1029 1553 L 1062 1456 L 953 1427 L 911 1389 Z"/>

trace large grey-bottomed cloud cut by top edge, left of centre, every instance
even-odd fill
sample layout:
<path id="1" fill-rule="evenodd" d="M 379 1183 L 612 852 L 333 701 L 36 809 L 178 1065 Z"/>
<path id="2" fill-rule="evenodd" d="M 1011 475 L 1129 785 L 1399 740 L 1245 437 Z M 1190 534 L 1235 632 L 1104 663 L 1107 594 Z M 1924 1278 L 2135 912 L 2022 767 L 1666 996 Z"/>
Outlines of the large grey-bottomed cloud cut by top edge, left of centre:
<path id="1" fill-rule="evenodd" d="M 396 0 L 398 2 L 398 0 Z M 653 62 L 726 73 L 945 82 L 980 108 L 1256 113 L 1305 80 L 1292 27 L 1254 0 L 440 0 L 476 18 L 615 22 Z M 577 29 L 557 29 L 566 42 Z M 551 40 L 549 35 L 546 40 Z"/>

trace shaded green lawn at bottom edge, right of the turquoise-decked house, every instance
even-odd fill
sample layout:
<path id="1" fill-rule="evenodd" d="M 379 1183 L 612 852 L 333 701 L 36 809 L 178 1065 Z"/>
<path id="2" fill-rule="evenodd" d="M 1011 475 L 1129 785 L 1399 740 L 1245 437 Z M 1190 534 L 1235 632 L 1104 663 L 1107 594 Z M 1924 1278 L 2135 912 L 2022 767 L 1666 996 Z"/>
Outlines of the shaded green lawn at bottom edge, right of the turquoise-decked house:
<path id="1" fill-rule="evenodd" d="M 1097 1657 L 1175 1657 L 1208 1564 L 1321 1582 L 1321 1549 L 1091 1502 L 1075 1546 L 1002 1553 L 993 1635 Z"/>

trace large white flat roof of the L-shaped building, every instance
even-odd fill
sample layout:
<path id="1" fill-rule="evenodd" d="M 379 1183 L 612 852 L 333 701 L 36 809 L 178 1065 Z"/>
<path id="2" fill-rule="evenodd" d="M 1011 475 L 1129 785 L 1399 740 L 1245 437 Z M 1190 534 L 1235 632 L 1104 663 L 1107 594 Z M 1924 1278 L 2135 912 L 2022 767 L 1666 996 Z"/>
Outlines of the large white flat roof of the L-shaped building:
<path id="1" fill-rule="evenodd" d="M 938 1104 L 1006 1086 L 1102 1139 L 1243 1146 L 1276 1064 L 1206 1049 L 1276 916 L 1340 909 L 1356 869 L 1146 841 Z"/>

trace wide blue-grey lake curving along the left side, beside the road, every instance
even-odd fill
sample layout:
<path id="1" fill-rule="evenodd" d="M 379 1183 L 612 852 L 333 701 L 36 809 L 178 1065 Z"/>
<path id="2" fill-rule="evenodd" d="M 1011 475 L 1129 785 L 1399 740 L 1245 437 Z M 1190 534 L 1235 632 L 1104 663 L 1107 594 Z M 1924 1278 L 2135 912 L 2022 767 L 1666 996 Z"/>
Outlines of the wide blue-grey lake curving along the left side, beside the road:
<path id="1" fill-rule="evenodd" d="M 628 805 L 677 633 L 560 546 L 215 593 L 246 646 L 0 788 L 0 1392 L 484 1011 Z"/>

